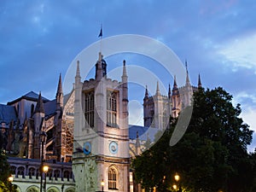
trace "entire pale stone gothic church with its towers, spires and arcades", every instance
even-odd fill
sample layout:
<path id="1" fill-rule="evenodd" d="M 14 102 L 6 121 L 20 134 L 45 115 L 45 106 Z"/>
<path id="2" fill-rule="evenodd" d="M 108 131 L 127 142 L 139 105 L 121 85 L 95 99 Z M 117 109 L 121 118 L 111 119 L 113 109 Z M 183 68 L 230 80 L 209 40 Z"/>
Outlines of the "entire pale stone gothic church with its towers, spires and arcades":
<path id="1" fill-rule="evenodd" d="M 43 157 L 49 165 L 47 191 L 137 191 L 131 159 L 148 140 L 154 142 L 157 131 L 165 130 L 170 115 L 177 117 L 190 104 L 193 92 L 201 87 L 200 77 L 198 86 L 192 86 L 187 70 L 186 84 L 178 88 L 174 79 L 168 96 L 160 94 L 158 83 L 154 96 L 148 96 L 146 88 L 144 126 L 138 126 L 128 124 L 125 61 L 120 82 L 108 79 L 101 53 L 95 79 L 81 81 L 79 62 L 74 76 L 74 89 L 66 96 L 60 75 L 52 101 L 31 91 L 7 105 L 0 104 L 1 147 L 9 156 L 14 183 L 22 192 L 39 191 Z M 45 143 L 40 139 L 43 131 Z"/>

